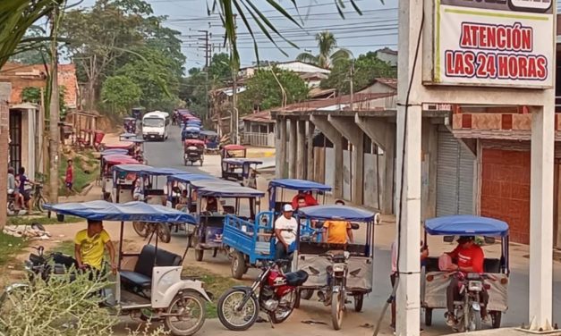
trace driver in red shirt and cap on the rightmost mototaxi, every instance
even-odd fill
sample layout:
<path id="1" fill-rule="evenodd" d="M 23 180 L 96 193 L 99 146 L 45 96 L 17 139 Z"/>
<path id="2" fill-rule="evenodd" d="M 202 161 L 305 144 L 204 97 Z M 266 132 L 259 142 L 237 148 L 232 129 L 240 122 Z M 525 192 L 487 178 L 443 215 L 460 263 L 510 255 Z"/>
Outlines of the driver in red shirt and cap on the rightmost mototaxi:
<path id="1" fill-rule="evenodd" d="M 462 236 L 456 240 L 458 246 L 447 255 L 452 258 L 454 263 L 447 269 L 448 272 L 462 272 L 462 273 L 483 273 L 483 261 L 485 255 L 483 249 L 475 244 L 475 237 Z M 448 310 L 446 323 L 454 325 L 454 301 L 461 300 L 460 288 L 458 286 L 457 276 L 452 277 L 450 284 L 446 290 L 446 308 Z M 489 293 L 485 288 L 480 293 L 481 305 L 481 319 L 487 320 L 487 304 L 489 303 Z"/>

